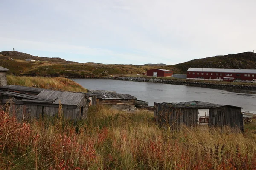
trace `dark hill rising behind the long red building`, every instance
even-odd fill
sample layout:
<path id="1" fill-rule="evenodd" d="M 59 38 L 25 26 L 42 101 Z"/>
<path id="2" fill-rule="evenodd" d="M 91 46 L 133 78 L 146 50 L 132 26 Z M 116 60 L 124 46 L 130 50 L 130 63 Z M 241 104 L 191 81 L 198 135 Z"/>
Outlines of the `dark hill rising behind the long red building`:
<path id="1" fill-rule="evenodd" d="M 188 62 L 172 65 L 186 72 L 188 68 L 234 68 L 256 69 L 256 53 L 244 52 L 223 56 L 194 59 Z"/>

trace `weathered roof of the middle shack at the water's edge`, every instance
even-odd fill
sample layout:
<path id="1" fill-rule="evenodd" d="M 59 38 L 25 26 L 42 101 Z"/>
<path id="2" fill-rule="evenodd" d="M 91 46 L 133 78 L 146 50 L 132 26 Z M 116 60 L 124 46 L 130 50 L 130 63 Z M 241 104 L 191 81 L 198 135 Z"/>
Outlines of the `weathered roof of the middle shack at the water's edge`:
<path id="1" fill-rule="evenodd" d="M 137 98 L 131 96 L 130 94 L 120 94 L 120 93 L 112 93 L 112 92 L 98 92 L 98 91 L 91 91 L 88 94 L 98 94 L 97 98 L 103 100 L 136 100 Z"/>

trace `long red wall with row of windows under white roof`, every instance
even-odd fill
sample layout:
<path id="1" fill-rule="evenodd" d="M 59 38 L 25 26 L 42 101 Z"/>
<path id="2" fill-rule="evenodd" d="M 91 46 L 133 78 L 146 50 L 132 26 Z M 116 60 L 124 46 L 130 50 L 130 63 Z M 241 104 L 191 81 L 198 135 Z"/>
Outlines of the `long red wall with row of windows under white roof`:
<path id="1" fill-rule="evenodd" d="M 228 77 L 228 79 L 224 79 Z M 234 79 L 231 79 L 234 78 Z M 219 81 L 233 81 L 233 80 L 253 80 L 256 79 L 256 74 L 251 73 L 224 73 L 224 72 L 202 72 L 202 71 L 188 71 L 187 79 L 212 79 Z"/>

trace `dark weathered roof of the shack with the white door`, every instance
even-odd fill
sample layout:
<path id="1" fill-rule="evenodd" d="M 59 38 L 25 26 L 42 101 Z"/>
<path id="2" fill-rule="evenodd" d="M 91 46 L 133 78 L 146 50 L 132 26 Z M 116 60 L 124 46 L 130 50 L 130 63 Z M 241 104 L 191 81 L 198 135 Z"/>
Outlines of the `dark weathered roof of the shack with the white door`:
<path id="1" fill-rule="evenodd" d="M 169 106 L 171 108 L 196 108 L 196 109 L 209 109 L 209 108 L 219 108 L 224 106 L 230 106 L 235 108 L 241 108 L 238 106 L 232 105 L 220 105 L 208 102 L 201 101 L 189 101 L 189 102 L 179 102 L 179 103 L 169 103 L 169 102 L 161 102 L 161 104 Z"/>

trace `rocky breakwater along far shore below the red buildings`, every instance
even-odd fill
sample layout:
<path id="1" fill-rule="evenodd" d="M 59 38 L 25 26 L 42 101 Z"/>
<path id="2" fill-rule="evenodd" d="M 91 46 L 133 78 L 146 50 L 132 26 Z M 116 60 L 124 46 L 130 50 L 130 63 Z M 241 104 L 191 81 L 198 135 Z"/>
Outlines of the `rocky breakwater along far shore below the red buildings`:
<path id="1" fill-rule="evenodd" d="M 114 77 L 110 79 L 124 80 L 124 81 L 134 81 L 134 82 L 154 82 L 154 83 L 164 83 L 173 85 L 188 85 L 196 87 L 206 87 L 206 88 L 235 88 L 235 89 L 250 89 L 256 90 L 256 85 L 252 83 L 247 84 L 236 84 L 234 83 L 221 83 L 221 82 L 203 82 L 203 81 L 191 81 L 186 79 L 162 79 L 162 78 L 152 78 L 152 77 Z"/>

